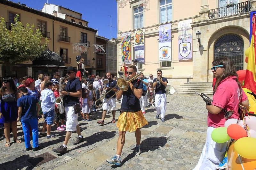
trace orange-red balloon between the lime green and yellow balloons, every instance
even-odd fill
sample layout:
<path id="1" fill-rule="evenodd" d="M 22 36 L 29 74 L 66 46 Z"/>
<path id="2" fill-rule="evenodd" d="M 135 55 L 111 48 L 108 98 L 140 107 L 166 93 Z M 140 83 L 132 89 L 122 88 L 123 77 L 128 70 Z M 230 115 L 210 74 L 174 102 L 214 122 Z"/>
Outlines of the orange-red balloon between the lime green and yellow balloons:
<path id="1" fill-rule="evenodd" d="M 240 139 L 241 137 L 247 137 L 246 130 L 238 124 L 231 124 L 227 129 L 228 136 L 232 139 Z"/>

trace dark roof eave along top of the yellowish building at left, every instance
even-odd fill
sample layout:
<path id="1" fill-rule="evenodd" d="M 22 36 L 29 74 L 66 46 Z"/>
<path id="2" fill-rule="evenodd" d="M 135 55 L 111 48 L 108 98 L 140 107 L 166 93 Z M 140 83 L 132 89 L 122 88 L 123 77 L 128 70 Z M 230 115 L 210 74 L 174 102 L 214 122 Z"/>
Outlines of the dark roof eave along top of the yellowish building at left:
<path id="1" fill-rule="evenodd" d="M 53 19 L 53 20 L 60 21 L 60 22 L 62 22 L 62 23 L 68 24 L 68 25 L 72 25 L 72 26 L 76 26 L 76 27 L 79 27 L 79 28 L 82 28 L 82 29 L 85 29 L 85 30 L 88 30 L 88 31 L 92 31 L 92 32 L 94 32 L 94 33 L 97 32 L 96 29 L 93 29 L 93 28 L 91 28 L 91 27 L 79 25 L 79 24 L 77 24 L 77 23 L 68 21 L 68 20 L 66 20 L 66 19 L 62 19 L 62 18 L 60 18 L 60 17 L 56 17 L 56 16 L 54 16 L 54 15 L 51 15 L 51 14 L 48 14 L 48 13 L 45 13 L 45 12 L 42 12 L 42 11 L 38 11 L 38 10 L 36 10 L 36 9 L 30 8 L 30 7 L 27 7 L 27 6 L 23 6 L 23 5 L 14 3 L 14 2 L 12 2 L 12 1 L 0 0 L 0 4 L 4 4 L 4 5 L 7 5 L 7 6 L 11 6 L 11 7 L 14 7 L 14 8 L 17 8 L 17 9 L 20 9 L 20 10 L 23 10 L 23 11 L 31 12 L 31 13 L 34 13 L 34 14 L 36 14 L 36 15 L 43 16 L 43 17 L 45 17 L 45 18 Z"/>

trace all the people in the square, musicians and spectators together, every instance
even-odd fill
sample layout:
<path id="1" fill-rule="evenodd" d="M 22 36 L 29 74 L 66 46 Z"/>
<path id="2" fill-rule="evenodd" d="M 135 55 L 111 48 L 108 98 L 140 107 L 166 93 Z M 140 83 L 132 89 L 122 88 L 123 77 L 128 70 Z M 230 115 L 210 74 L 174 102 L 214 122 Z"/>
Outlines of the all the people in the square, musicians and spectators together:
<path id="1" fill-rule="evenodd" d="M 63 144 L 52 151 L 57 153 L 67 152 L 67 144 L 71 133 L 76 131 L 77 138 L 74 145 L 83 142 L 78 115 L 81 121 L 91 121 L 92 112 L 102 107 L 102 119 L 98 121 L 104 125 L 106 114 L 112 112 L 112 123 L 116 123 L 116 102 L 121 101 L 120 115 L 116 126 L 119 130 L 116 155 L 106 161 L 111 164 L 121 165 L 121 154 L 125 143 L 126 131 L 135 131 L 136 146 L 135 154 L 140 155 L 140 128 L 148 122 L 144 115 L 145 107 L 155 107 L 156 119 L 161 118 L 165 122 L 167 78 L 163 77 L 162 70 L 156 71 L 156 78 L 149 74 L 149 78 L 143 73 L 138 75 L 135 65 L 121 68 L 123 75 L 130 81 L 128 88 L 118 87 L 117 77 L 107 73 L 105 77 L 89 75 L 84 77 L 79 59 L 77 68 L 68 67 L 66 77 L 60 78 L 60 73 L 55 72 L 52 79 L 50 76 L 39 74 L 35 80 L 32 77 L 24 77 L 19 80 L 13 77 L 0 79 L 1 104 L 0 123 L 4 124 L 5 146 L 10 147 L 10 129 L 12 129 L 13 141 L 22 143 L 17 136 L 17 122 L 20 121 L 24 133 L 26 150 L 32 149 L 30 136 L 33 138 L 33 150 L 40 148 L 38 136 L 47 139 L 55 138 L 51 133 L 52 125 L 56 124 L 58 131 L 66 131 Z M 227 142 L 218 144 L 211 138 L 211 132 L 217 127 L 224 127 L 225 118 L 222 109 L 234 110 L 233 118 L 238 118 L 238 104 L 249 107 L 249 101 L 245 95 L 233 63 L 227 58 L 219 58 L 212 62 L 213 76 L 216 83 L 213 87 L 214 95 L 212 103 L 208 103 L 208 130 L 207 139 L 202 155 L 195 169 L 214 169 L 222 160 L 227 147 Z M 85 71 L 85 70 L 84 70 Z M 138 78 L 133 79 L 133 77 Z M 57 102 L 60 99 L 61 102 Z M 101 99 L 101 100 L 100 100 Z M 38 127 L 38 119 L 44 115 L 43 127 Z M 61 120 L 61 122 L 60 122 Z M 66 121 L 66 125 L 65 125 Z M 46 129 L 46 132 L 45 132 Z M 40 133 L 38 132 L 40 131 Z M 206 168 L 207 169 L 207 168 Z"/>

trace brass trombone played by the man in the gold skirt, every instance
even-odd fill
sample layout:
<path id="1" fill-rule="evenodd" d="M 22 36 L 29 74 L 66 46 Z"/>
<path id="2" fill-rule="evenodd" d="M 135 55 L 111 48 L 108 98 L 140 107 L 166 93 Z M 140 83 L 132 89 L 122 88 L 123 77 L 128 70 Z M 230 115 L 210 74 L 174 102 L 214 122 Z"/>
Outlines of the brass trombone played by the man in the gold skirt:
<path id="1" fill-rule="evenodd" d="M 118 78 L 118 79 L 117 79 L 117 85 L 116 85 L 116 86 L 118 86 L 118 87 L 120 88 L 120 90 L 127 91 L 128 88 L 129 88 L 128 83 L 129 83 L 130 81 L 132 81 L 132 80 L 137 79 L 138 77 L 140 77 L 141 73 L 142 73 L 142 71 L 139 72 L 138 74 L 136 74 L 134 77 L 129 78 L 129 79 Z M 96 104 L 99 100 L 102 100 L 102 101 L 103 101 L 103 99 L 105 98 L 105 96 L 106 96 L 109 92 L 111 92 L 114 88 L 116 88 L 116 86 L 113 87 L 112 89 L 110 89 L 108 92 L 105 92 L 104 95 L 102 95 L 98 100 L 95 101 L 96 107 L 101 107 L 104 103 L 106 103 L 108 100 L 110 100 L 113 96 L 116 95 L 116 93 L 115 93 L 115 94 L 113 94 L 108 100 L 106 100 L 105 102 L 103 102 L 103 103 L 101 103 L 101 104 L 99 104 L 99 105 Z"/>

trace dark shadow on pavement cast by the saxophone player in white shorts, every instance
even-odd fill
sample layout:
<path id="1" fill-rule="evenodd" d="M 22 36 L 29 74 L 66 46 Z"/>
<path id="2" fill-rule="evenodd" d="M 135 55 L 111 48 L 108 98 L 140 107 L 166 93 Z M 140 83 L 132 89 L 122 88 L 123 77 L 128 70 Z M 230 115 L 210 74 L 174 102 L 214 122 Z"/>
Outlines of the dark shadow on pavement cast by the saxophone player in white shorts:
<path id="1" fill-rule="evenodd" d="M 112 131 L 112 132 L 102 131 L 102 132 L 94 133 L 92 136 L 85 137 L 84 142 L 82 144 L 78 145 L 75 148 L 72 148 L 71 150 L 68 150 L 68 152 L 79 149 L 81 147 L 95 144 L 96 142 L 100 142 L 103 139 L 111 139 L 111 138 L 115 137 L 115 135 L 116 135 L 116 131 Z M 87 142 L 85 143 L 85 141 L 87 141 Z"/>

